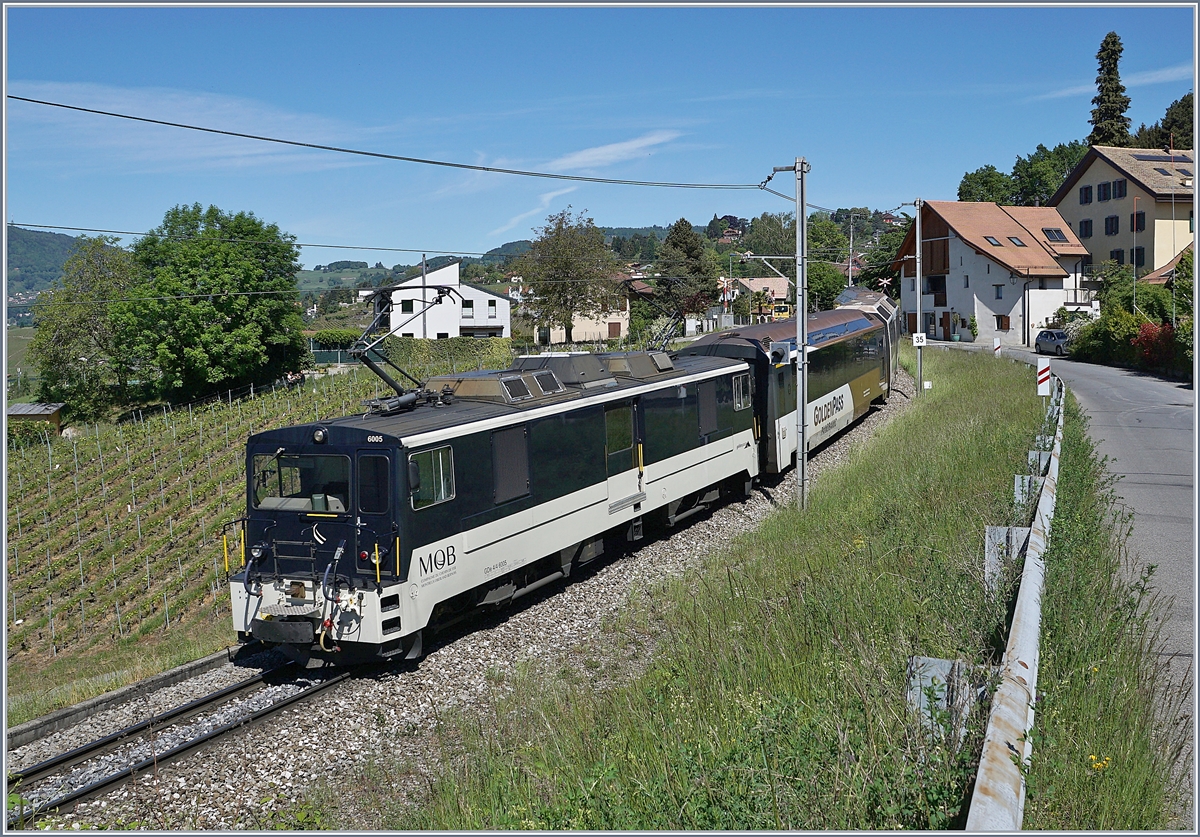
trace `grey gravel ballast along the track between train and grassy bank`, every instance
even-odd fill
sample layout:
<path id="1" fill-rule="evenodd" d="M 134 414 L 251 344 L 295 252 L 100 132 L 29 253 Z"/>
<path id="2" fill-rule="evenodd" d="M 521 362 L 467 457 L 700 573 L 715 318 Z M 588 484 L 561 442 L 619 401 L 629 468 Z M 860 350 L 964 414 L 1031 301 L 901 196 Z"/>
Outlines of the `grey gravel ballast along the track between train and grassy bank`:
<path id="1" fill-rule="evenodd" d="M 875 409 L 810 458 L 810 484 L 904 410 L 912 395 L 912 378 L 901 369 L 887 405 Z M 397 802 L 419 799 L 438 765 L 452 758 L 437 735 L 440 716 L 456 710 L 490 712 L 496 697 L 506 688 L 509 675 L 521 664 L 545 667 L 547 673 L 570 666 L 598 688 L 642 670 L 654 652 L 653 637 L 613 643 L 605 638 L 605 624 L 618 615 L 635 591 L 653 589 L 698 567 L 710 553 L 757 526 L 776 507 L 792 502 L 794 486 L 794 471 L 764 481 L 744 502 L 696 516 L 670 536 L 628 555 L 601 559 L 594 570 L 584 567 L 569 583 L 551 584 L 509 612 L 469 620 L 443 633 L 416 664 L 397 664 L 383 674 L 354 678 L 324 696 L 281 711 L 245 735 L 227 736 L 198 755 L 166 765 L 155 775 L 143 775 L 43 825 L 258 830 L 275 825 L 277 812 L 295 808 L 310 788 L 356 784 L 364 781 L 364 771 L 370 772 L 380 796 Z M 584 666 L 584 657 L 590 666 Z M 599 667 L 596 660 L 601 660 Z M 193 697 L 199 697 L 199 691 Z M 139 711 L 142 716 L 125 723 L 145 717 L 145 707 Z M 82 731 L 85 724 L 80 724 L 58 733 L 52 736 L 53 743 L 22 748 L 32 751 L 44 745 L 38 755 L 23 753 L 23 764 L 116 728 L 106 730 L 96 727 L 98 722 L 98 717 L 91 719 L 88 731 Z M 78 737 L 71 743 L 77 730 Z M 407 772 L 372 770 L 377 761 L 401 763 Z M 365 807 L 343 806 L 340 814 L 347 821 L 340 826 L 355 831 L 383 827 L 380 812 Z"/>

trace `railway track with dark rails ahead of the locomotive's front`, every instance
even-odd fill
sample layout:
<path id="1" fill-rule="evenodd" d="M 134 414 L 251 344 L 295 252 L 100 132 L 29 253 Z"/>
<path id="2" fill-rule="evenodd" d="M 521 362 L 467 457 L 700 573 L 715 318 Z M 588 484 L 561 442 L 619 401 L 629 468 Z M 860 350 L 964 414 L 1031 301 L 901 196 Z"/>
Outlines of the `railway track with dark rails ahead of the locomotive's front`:
<path id="1" fill-rule="evenodd" d="M 90 743 L 10 772 L 10 800 L 16 795 L 17 802 L 10 803 L 7 827 L 30 827 L 42 814 L 104 794 L 145 771 L 156 770 L 223 735 L 306 700 L 354 674 L 343 669 L 320 676 L 318 672 L 306 670 L 295 663 L 262 672 Z M 310 682 L 295 688 L 306 678 L 311 678 Z M 259 696 L 259 692 L 264 694 Z M 187 724 L 190 721 L 193 723 Z"/>

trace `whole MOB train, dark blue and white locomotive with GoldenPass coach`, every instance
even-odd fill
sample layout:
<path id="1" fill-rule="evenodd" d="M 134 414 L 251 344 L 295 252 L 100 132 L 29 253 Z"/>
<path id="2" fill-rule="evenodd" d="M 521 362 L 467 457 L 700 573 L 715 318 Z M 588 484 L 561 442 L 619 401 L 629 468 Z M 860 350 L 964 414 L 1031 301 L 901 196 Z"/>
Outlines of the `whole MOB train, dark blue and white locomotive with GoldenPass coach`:
<path id="1" fill-rule="evenodd" d="M 653 517 L 748 494 L 794 462 L 787 329 L 674 355 L 523 356 L 412 391 L 364 356 L 395 397 L 247 440 L 239 638 L 298 658 L 416 657 L 430 627 L 566 577 Z M 895 311 L 848 294 L 809 333 L 816 446 L 887 396 Z"/>

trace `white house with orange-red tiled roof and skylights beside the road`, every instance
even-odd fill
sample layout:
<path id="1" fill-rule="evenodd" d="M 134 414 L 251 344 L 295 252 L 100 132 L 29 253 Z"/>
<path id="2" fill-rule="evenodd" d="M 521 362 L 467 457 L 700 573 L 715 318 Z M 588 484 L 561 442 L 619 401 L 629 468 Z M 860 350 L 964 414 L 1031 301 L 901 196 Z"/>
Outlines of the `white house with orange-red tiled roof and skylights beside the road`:
<path id="1" fill-rule="evenodd" d="M 928 200 L 920 224 L 919 324 L 916 224 L 893 261 L 910 333 L 968 341 L 974 317 L 979 341 L 1031 345 L 1058 308 L 1092 311 L 1080 287 L 1087 248 L 1052 206 Z"/>

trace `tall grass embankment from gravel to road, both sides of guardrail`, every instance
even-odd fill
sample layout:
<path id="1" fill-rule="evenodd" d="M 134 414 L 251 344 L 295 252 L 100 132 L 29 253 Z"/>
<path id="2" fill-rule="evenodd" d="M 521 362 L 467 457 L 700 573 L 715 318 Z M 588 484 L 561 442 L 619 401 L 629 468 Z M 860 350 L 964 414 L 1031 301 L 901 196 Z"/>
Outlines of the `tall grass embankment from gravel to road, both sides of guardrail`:
<path id="1" fill-rule="evenodd" d="M 578 649 L 582 667 L 529 666 L 494 711 L 443 716 L 450 766 L 424 805 L 390 801 L 389 779 L 412 769 L 403 764 L 376 765 L 370 782 L 343 783 L 337 795 L 318 791 L 308 805 L 322 821 L 352 826 L 361 823 L 354 812 L 379 812 L 372 824 L 390 829 L 960 824 L 983 719 L 972 718 L 956 752 L 952 735 L 928 733 L 905 699 L 906 662 L 910 655 L 998 661 L 1007 608 L 983 592 L 984 526 L 1019 523 L 1013 474 L 1025 470 L 1043 414 L 1022 365 L 930 351 L 925 369 L 934 390 L 822 476 L 805 513 L 781 510 L 707 571 L 646 591 L 610 626 L 612 644 L 658 634 L 648 672 L 622 687 L 593 688 L 588 672 L 608 664 L 595 648 Z M 1064 486 L 1087 470 L 1075 414 L 1070 422 Z M 1069 506 L 1060 516 L 1081 520 L 1093 546 L 1111 554 L 1108 507 L 1096 490 L 1086 480 L 1064 488 Z M 1138 618 L 1120 607 L 1130 591 L 1114 561 L 1060 549 L 1063 540 L 1055 535 L 1050 583 L 1058 589 L 1042 679 L 1063 678 L 1062 666 L 1068 679 L 1082 678 L 1074 655 L 1091 660 L 1086 649 L 1098 648 L 1114 663 L 1135 664 L 1127 679 L 1146 670 Z M 1086 603 L 1074 600 L 1078 585 L 1091 596 Z M 1106 704 L 1120 711 L 1072 722 L 1069 742 L 1067 734 L 1039 739 L 1034 824 L 1164 820 L 1166 759 L 1138 721 L 1151 717 L 1152 698 L 1121 682 L 1116 667 L 1100 672 L 1087 675 L 1088 688 L 1050 690 L 1055 724 L 1094 712 L 1104 699 L 1096 688 L 1120 696 Z M 1091 737 L 1118 729 L 1138 740 L 1105 749 Z M 1087 772 L 1088 763 L 1075 763 L 1093 747 L 1111 755 L 1109 766 L 1091 769 L 1079 787 L 1061 784 L 1067 764 Z M 1134 751 L 1141 758 L 1126 758 Z M 1126 785 L 1121 800 L 1109 800 L 1098 781 Z M 358 795 L 342 799 L 346 787 Z"/>

